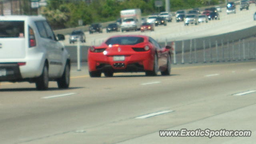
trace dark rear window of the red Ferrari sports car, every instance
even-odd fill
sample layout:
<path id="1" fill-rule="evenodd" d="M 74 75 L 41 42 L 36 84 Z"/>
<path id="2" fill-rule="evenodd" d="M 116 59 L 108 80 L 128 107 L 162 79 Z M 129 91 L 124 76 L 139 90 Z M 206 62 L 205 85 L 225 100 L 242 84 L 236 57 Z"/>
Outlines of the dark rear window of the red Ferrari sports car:
<path id="1" fill-rule="evenodd" d="M 106 41 L 107 45 L 135 45 L 144 42 L 144 38 L 136 37 L 136 36 L 122 36 L 122 37 L 115 37 L 110 38 Z"/>

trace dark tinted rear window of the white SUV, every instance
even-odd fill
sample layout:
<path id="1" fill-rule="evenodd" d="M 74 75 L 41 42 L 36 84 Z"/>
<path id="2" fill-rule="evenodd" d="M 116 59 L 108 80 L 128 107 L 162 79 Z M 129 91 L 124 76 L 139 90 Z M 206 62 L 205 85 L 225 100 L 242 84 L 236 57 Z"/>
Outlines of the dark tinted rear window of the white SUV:
<path id="1" fill-rule="evenodd" d="M 0 21 L 0 38 L 24 38 L 24 21 Z"/>

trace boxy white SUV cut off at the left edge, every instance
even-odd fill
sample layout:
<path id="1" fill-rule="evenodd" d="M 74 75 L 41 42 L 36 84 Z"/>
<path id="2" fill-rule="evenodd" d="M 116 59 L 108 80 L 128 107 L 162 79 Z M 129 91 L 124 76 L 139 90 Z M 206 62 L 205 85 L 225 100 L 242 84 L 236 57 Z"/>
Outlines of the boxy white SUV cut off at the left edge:
<path id="1" fill-rule="evenodd" d="M 0 16 L 0 82 L 35 82 L 46 90 L 70 84 L 70 55 L 42 16 Z"/>

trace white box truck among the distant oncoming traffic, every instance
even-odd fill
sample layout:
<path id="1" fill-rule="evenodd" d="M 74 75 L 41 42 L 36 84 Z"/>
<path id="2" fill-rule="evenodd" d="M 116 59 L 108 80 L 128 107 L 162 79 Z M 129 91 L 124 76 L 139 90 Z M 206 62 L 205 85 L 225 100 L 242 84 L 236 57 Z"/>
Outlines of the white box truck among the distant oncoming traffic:
<path id="1" fill-rule="evenodd" d="M 141 11 L 140 9 L 121 10 L 120 16 L 122 18 L 121 30 L 140 30 L 141 26 Z"/>

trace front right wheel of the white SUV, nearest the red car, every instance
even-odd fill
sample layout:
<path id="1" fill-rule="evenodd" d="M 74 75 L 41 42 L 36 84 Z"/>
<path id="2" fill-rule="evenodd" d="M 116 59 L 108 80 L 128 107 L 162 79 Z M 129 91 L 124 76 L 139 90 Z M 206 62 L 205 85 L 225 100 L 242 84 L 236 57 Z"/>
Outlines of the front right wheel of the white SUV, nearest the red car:
<path id="1" fill-rule="evenodd" d="M 66 64 L 61 78 L 57 80 L 58 88 L 66 89 L 70 84 L 70 66 Z"/>

